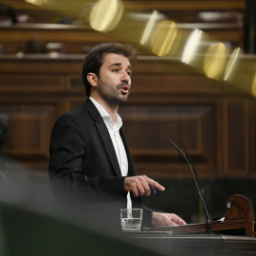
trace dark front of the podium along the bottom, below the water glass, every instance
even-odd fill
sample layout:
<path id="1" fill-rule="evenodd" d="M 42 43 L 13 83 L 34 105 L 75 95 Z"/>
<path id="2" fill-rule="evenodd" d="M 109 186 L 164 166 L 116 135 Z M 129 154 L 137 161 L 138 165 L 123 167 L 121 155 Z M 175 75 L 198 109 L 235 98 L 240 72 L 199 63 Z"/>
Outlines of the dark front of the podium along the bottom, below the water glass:
<path id="1" fill-rule="evenodd" d="M 222 234 L 121 232 L 128 241 L 161 255 L 256 255 L 256 238 Z"/>

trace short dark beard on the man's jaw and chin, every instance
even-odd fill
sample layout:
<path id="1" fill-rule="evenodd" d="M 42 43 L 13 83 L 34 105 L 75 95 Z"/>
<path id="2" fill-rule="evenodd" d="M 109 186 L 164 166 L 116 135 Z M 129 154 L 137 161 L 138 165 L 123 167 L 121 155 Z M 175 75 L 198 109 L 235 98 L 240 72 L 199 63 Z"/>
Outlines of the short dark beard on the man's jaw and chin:
<path id="1" fill-rule="evenodd" d="M 119 89 L 123 85 L 128 85 L 127 82 L 121 82 L 117 86 L 113 86 L 107 82 L 103 82 L 101 78 L 98 81 L 98 93 L 101 98 L 108 103 L 111 107 L 116 107 L 117 105 L 124 103 L 128 100 L 130 91 L 127 94 L 120 94 Z"/>

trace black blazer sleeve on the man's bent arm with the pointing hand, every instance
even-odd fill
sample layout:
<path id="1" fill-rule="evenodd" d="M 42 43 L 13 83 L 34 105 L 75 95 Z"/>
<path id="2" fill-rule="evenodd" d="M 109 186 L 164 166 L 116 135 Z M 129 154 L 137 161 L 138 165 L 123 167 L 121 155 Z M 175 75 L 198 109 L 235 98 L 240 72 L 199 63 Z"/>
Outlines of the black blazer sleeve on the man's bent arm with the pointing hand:
<path id="1" fill-rule="evenodd" d="M 86 133 L 80 121 L 65 114 L 53 126 L 50 137 L 49 177 L 57 199 L 78 202 L 122 200 L 122 176 L 86 175 Z M 85 170 L 84 170 L 85 166 Z"/>

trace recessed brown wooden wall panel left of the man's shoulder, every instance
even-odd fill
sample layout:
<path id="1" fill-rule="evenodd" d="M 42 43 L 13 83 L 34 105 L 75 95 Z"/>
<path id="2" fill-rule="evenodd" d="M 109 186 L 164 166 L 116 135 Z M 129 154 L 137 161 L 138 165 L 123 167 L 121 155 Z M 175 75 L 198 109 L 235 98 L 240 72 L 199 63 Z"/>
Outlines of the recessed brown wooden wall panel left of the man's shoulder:
<path id="1" fill-rule="evenodd" d="M 56 109 L 50 105 L 1 105 L 9 115 L 9 155 L 48 160 L 48 138 Z"/>

